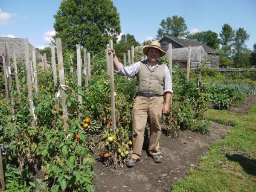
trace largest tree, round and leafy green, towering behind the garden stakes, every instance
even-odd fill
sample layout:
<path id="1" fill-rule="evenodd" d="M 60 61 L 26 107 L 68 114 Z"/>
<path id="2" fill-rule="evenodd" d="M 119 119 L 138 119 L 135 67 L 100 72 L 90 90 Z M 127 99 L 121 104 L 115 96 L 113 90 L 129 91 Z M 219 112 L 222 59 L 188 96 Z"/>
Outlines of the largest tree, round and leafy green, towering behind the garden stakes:
<path id="1" fill-rule="evenodd" d="M 54 38 L 61 38 L 69 49 L 80 44 L 92 54 L 105 48 L 109 39 L 115 42 L 121 32 L 119 14 L 111 0 L 65 0 L 54 18 Z"/>

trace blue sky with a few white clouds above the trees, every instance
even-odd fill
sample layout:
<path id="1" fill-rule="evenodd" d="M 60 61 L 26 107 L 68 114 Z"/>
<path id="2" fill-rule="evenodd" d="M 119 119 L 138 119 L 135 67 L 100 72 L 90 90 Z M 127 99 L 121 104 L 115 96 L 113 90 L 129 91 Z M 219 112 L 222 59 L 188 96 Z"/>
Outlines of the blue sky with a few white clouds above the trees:
<path id="1" fill-rule="evenodd" d="M 53 15 L 61 0 L 0 0 L 0 37 L 28 38 L 38 48 L 49 44 L 54 34 Z M 161 20 L 183 17 L 191 32 L 211 30 L 218 35 L 225 23 L 250 34 L 246 45 L 256 43 L 255 0 L 113 0 L 122 32 L 138 42 L 154 39 Z"/>

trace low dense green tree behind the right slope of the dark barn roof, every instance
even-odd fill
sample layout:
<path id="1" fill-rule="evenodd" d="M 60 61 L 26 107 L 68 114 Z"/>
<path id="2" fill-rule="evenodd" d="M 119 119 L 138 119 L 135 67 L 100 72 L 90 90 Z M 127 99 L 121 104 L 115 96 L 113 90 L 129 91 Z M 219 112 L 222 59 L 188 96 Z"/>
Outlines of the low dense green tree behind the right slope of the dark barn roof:
<path id="1" fill-rule="evenodd" d="M 212 49 L 218 49 L 219 39 L 218 34 L 210 30 L 197 32 L 195 34 L 187 35 L 186 38 L 199 41 L 202 44 L 211 47 Z"/>

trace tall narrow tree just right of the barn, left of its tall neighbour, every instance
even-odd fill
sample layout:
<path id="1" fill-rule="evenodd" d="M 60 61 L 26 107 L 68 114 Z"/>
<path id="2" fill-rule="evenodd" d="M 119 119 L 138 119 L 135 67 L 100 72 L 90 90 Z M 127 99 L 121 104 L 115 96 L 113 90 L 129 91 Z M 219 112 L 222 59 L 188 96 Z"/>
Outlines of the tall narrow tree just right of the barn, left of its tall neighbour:
<path id="1" fill-rule="evenodd" d="M 232 53 L 232 42 L 235 37 L 235 30 L 229 24 L 224 24 L 220 33 L 220 42 L 222 44 L 221 54 L 224 56 L 230 56 Z"/>

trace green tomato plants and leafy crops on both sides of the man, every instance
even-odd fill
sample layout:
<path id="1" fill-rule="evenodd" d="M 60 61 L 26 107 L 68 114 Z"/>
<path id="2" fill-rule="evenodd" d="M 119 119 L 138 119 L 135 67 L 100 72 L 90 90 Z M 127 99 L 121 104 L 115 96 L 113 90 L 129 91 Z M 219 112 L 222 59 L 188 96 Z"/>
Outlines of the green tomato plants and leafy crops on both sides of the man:
<path id="1" fill-rule="evenodd" d="M 88 87 L 85 86 L 85 78 L 81 78 L 82 86 L 78 86 L 76 65 L 70 61 L 72 54 L 64 52 L 63 55 L 67 128 L 64 127 L 63 110 L 58 107 L 61 99 L 56 98 L 59 84 L 53 82 L 51 69 L 45 71 L 39 65 L 37 68 L 38 93 L 33 90 L 35 126 L 32 126 L 33 116 L 29 112 L 27 76 L 21 73 L 26 71 L 24 61 L 17 59 L 20 93 L 15 90 L 13 82 L 15 102 L 12 106 L 6 99 L 3 70 L 0 71 L 0 145 L 5 186 L 9 192 L 94 191 L 93 180 L 98 178 L 93 172 L 96 148 L 102 150 L 102 163 L 110 167 L 125 163 L 131 154 L 131 110 L 137 94 L 136 78 L 125 79 L 114 74 L 114 135 L 111 82 L 105 52 L 94 55 L 92 59 Z M 167 63 L 166 58 L 162 61 Z M 72 65 L 74 70 L 70 72 Z M 168 125 L 168 134 L 172 137 L 177 137 L 184 129 L 207 134 L 210 122 L 204 121 L 204 113 L 208 108 L 226 109 L 256 91 L 255 79 L 233 80 L 230 77 L 227 81 L 204 65 L 191 71 L 189 80 L 186 79 L 186 71 L 180 70 L 178 64 L 172 70 L 172 108 L 163 116 L 163 123 Z M 247 73 L 256 76 L 255 71 Z M 198 76 L 202 76 L 200 81 Z M 241 84 L 240 88 L 231 86 L 231 83 Z M 79 103 L 79 95 L 82 103 Z M 44 178 L 35 180 L 39 170 L 44 170 Z"/>

